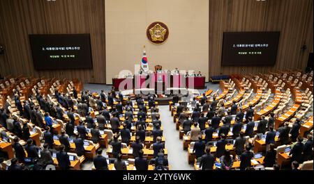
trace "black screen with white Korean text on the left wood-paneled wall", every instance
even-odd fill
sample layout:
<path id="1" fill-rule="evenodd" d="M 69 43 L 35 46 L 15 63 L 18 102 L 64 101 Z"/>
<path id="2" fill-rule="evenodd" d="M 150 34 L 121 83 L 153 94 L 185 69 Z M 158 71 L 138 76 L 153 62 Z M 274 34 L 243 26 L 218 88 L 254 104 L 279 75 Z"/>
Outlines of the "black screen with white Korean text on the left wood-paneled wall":
<path id="1" fill-rule="evenodd" d="M 91 69 L 89 34 L 29 35 L 36 70 Z"/>

